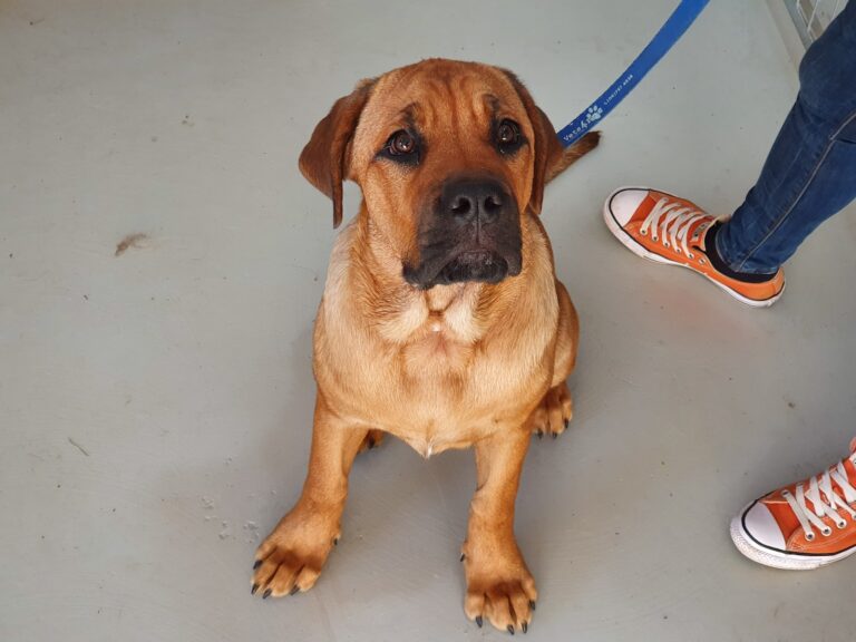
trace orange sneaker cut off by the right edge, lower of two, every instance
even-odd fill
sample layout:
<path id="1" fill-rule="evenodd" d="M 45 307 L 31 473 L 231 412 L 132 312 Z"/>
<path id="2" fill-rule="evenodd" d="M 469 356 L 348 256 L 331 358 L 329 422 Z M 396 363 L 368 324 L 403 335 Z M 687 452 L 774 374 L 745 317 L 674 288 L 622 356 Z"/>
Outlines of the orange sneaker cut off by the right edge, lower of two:
<path id="1" fill-rule="evenodd" d="M 856 439 L 850 456 L 752 502 L 731 521 L 740 553 L 776 568 L 810 570 L 856 553 Z"/>

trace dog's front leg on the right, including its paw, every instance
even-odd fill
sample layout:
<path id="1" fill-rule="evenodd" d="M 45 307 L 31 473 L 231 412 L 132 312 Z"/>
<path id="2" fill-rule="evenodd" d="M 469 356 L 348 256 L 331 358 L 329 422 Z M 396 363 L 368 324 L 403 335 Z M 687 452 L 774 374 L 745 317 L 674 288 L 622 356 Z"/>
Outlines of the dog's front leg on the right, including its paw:
<path id="1" fill-rule="evenodd" d="M 514 500 L 529 432 L 509 429 L 476 444 L 478 486 L 469 509 L 464 567 L 464 610 L 479 626 L 526 632 L 538 593 L 514 538 Z"/>

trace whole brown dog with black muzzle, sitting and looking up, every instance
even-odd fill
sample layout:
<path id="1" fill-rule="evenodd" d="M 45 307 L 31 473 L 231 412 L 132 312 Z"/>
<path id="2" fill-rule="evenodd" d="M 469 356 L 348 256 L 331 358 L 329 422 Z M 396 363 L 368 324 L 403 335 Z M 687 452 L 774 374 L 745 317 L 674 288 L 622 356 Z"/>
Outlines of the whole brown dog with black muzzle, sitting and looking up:
<path id="1" fill-rule="evenodd" d="M 360 82 L 300 157 L 333 200 L 362 188 L 339 235 L 314 329 L 318 381 L 303 493 L 259 547 L 253 593 L 308 591 L 331 547 L 357 453 L 382 432 L 425 457 L 475 446 L 461 547 L 465 611 L 526 631 L 535 581 L 514 537 L 533 431 L 571 419 L 577 320 L 538 221 L 544 185 L 597 145 L 563 150 L 508 71 L 425 60 Z"/>

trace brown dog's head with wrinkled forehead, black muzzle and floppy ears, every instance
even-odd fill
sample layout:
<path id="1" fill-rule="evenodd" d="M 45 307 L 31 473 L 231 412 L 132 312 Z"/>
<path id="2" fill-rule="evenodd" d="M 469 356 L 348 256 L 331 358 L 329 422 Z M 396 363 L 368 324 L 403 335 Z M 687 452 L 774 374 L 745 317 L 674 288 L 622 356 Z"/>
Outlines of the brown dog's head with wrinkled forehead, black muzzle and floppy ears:
<path id="1" fill-rule="evenodd" d="M 497 283 L 522 269 L 522 221 L 541 211 L 552 125 L 508 71 L 425 60 L 340 98 L 300 156 L 333 200 L 342 181 L 411 284 Z M 553 142 L 555 145 L 555 142 Z"/>

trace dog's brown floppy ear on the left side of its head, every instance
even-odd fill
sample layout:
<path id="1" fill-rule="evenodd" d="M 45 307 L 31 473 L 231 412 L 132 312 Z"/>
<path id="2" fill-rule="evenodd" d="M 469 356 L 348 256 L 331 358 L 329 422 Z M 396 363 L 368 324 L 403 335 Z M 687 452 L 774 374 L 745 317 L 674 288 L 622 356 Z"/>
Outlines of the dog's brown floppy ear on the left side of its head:
<path id="1" fill-rule="evenodd" d="M 342 182 L 348 177 L 350 143 L 373 85 L 374 79 L 360 80 L 351 94 L 339 98 L 315 125 L 300 154 L 303 176 L 333 200 L 333 227 L 342 222 Z"/>

